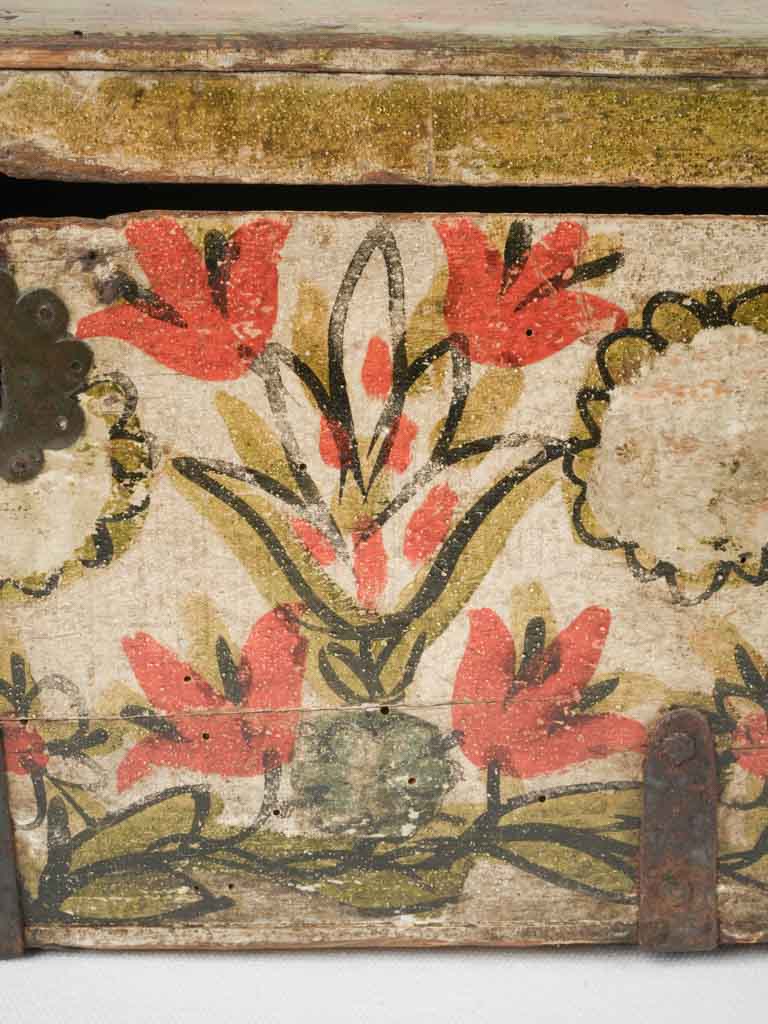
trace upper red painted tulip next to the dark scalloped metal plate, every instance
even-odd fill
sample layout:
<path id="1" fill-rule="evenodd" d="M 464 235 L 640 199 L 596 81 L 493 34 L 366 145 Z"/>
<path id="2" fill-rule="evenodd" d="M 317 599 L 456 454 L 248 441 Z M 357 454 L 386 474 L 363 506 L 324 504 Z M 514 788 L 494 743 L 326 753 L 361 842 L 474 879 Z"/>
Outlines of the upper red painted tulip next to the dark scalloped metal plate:
<path id="1" fill-rule="evenodd" d="M 201 254 L 172 217 L 131 221 L 126 238 L 152 290 L 125 273 L 125 301 L 84 316 L 79 338 L 122 338 L 179 374 L 234 380 L 263 351 L 278 314 L 278 261 L 289 225 L 259 218 Z"/>

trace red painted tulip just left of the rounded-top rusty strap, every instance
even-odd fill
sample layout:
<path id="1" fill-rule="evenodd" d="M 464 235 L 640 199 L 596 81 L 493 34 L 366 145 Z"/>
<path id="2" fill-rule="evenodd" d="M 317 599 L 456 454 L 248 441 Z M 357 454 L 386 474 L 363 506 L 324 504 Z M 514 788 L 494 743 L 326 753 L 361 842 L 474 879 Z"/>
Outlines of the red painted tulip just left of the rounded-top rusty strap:
<path id="1" fill-rule="evenodd" d="M 610 613 L 583 611 L 549 646 L 531 620 L 516 663 L 512 636 L 490 608 L 470 613 L 470 636 L 456 677 L 454 728 L 480 768 L 530 778 L 618 751 L 639 751 L 645 729 L 623 715 L 583 707 L 608 634 Z M 580 707 L 582 706 L 582 707 Z"/>

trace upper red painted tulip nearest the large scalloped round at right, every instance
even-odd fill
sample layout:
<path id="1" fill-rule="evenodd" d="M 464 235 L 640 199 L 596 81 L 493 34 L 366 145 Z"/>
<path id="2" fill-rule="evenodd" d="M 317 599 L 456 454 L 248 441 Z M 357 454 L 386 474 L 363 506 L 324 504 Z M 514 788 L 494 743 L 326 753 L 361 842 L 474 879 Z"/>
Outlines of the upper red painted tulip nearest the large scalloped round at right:
<path id="1" fill-rule="evenodd" d="M 587 242 L 580 224 L 562 221 L 530 246 L 515 221 L 502 257 L 466 217 L 435 224 L 449 262 L 443 312 L 449 329 L 469 343 L 469 357 L 497 367 L 524 367 L 554 355 L 596 326 L 627 324 L 623 309 L 572 285 L 610 272 L 621 256 L 579 264 Z"/>

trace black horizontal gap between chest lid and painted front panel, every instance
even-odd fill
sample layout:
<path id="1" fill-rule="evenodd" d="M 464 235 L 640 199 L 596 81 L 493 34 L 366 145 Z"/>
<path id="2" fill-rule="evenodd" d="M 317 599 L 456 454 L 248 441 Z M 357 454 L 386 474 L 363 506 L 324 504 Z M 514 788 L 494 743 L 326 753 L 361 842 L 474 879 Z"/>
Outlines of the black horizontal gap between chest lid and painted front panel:
<path id="1" fill-rule="evenodd" d="M 102 184 L 0 175 L 3 219 L 109 217 L 138 210 L 749 215 L 768 213 L 768 188 Z"/>

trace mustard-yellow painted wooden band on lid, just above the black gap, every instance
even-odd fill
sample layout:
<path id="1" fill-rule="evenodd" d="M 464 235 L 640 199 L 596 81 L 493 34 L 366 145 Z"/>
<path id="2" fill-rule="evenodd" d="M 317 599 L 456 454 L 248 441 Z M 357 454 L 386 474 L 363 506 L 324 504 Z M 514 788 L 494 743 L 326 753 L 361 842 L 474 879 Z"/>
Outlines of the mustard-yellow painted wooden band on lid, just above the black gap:
<path id="1" fill-rule="evenodd" d="M 765 185 L 768 84 L 3 72 L 0 169 L 100 181 Z"/>

